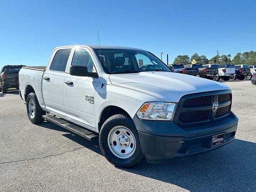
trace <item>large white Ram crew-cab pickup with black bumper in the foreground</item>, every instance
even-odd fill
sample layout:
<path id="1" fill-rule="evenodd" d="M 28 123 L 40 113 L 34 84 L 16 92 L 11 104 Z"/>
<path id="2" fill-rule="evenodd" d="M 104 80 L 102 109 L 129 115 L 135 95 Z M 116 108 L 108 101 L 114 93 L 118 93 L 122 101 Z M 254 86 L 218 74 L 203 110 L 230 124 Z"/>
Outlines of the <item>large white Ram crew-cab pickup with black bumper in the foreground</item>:
<path id="1" fill-rule="evenodd" d="M 120 167 L 214 150 L 237 130 L 227 86 L 174 73 L 141 49 L 58 47 L 47 67 L 22 67 L 19 83 L 32 123 L 98 138 Z"/>

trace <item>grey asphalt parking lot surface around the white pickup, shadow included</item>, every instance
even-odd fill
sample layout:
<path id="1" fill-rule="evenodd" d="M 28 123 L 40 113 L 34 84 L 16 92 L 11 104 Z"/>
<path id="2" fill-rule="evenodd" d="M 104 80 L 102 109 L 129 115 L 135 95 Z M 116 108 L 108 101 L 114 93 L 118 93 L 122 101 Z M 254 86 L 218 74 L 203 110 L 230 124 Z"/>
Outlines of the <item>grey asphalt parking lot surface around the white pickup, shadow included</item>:
<path id="1" fill-rule="evenodd" d="M 236 139 L 196 156 L 162 164 L 145 159 L 116 168 L 98 141 L 51 123 L 32 124 L 18 92 L 0 93 L 0 191 L 255 191 L 256 86 L 220 81 L 232 89 Z"/>

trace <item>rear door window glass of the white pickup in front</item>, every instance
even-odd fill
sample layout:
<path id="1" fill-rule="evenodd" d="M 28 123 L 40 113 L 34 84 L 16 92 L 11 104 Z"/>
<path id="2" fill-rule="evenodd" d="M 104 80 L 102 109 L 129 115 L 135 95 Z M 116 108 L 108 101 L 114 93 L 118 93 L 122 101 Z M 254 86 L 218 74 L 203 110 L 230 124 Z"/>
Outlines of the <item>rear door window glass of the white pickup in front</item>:
<path id="1" fill-rule="evenodd" d="M 66 65 L 68 62 L 68 57 L 70 52 L 71 52 L 71 49 L 58 50 L 52 60 L 52 65 L 50 70 L 64 72 L 66 70 Z"/>

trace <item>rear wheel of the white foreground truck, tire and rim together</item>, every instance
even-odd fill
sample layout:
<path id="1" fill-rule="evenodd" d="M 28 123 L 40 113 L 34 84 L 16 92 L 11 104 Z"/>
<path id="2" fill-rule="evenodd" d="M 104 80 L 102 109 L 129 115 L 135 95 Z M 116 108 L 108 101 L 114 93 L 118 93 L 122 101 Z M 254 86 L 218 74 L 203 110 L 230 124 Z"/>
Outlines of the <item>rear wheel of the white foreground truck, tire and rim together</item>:
<path id="1" fill-rule="evenodd" d="M 44 121 L 44 118 L 42 118 L 42 116 L 45 115 L 46 112 L 42 110 L 42 108 L 40 107 L 35 93 L 28 94 L 26 105 L 28 119 L 33 124 L 37 124 Z"/>

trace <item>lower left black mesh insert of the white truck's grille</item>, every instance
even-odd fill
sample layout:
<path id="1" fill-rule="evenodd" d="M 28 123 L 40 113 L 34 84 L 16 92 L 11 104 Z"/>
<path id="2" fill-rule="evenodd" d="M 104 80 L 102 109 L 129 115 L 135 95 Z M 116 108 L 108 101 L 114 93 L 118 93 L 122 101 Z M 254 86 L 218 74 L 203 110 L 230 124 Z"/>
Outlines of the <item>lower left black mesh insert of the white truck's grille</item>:
<path id="1" fill-rule="evenodd" d="M 179 120 L 181 123 L 205 121 L 208 120 L 209 112 L 210 110 L 180 113 Z"/>

